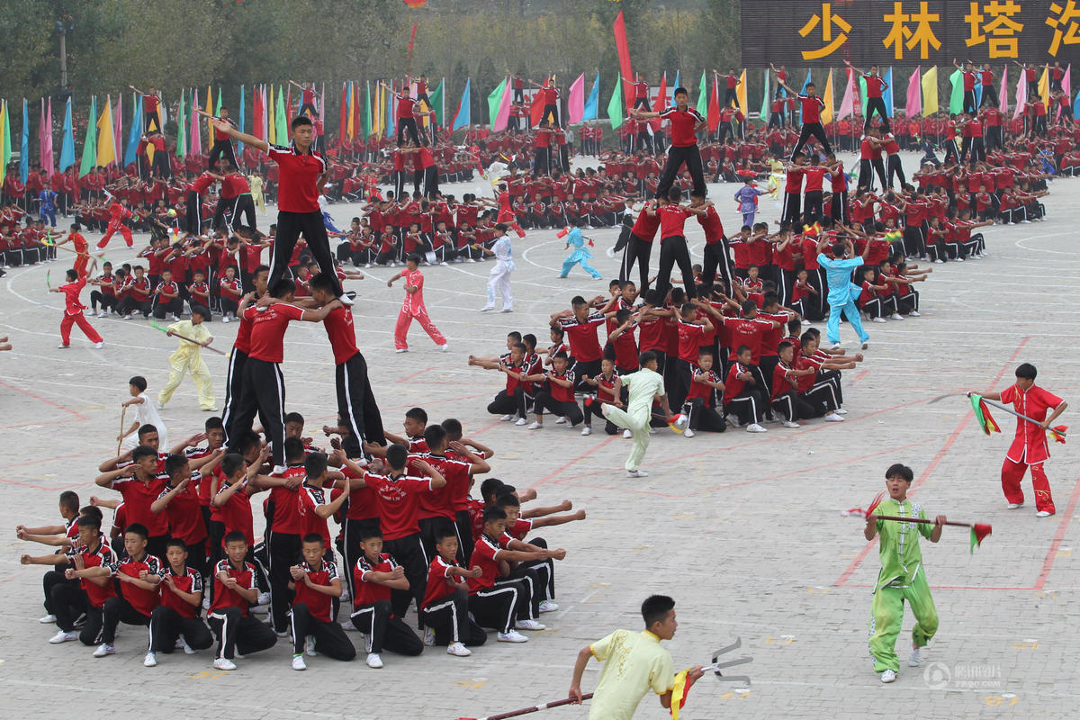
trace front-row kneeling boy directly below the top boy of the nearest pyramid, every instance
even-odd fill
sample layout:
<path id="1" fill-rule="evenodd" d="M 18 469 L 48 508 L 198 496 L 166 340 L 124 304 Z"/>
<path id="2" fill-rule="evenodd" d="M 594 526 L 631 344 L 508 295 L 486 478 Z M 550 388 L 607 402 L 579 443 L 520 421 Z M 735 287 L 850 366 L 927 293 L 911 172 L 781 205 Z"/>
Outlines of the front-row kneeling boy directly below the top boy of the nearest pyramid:
<path id="1" fill-rule="evenodd" d="M 337 565 L 323 557 L 326 546 L 318 532 L 303 536 L 301 553 L 303 561 L 288 569 L 289 589 L 296 592 L 292 611 L 293 669 L 308 668 L 305 653 L 350 661 L 356 656 L 356 649 L 333 616 L 333 599 L 341 597 Z"/>

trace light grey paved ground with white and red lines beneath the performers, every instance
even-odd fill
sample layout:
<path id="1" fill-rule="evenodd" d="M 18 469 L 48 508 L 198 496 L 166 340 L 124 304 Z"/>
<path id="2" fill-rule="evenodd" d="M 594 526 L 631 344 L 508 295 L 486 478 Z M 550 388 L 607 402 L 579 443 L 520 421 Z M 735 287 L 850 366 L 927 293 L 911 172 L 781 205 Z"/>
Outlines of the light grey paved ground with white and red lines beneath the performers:
<path id="1" fill-rule="evenodd" d="M 495 474 L 535 487 L 541 501 L 568 498 L 589 513 L 585 522 L 543 533 L 569 551 L 558 566 L 562 608 L 544 617 L 550 629 L 524 647 L 490 642 L 468 660 L 442 652 L 388 655 L 378 673 L 362 661 L 315 658 L 314 676 L 297 676 L 283 647 L 242 661 L 237 673 L 212 671 L 206 653 L 171 656 L 147 670 L 140 664 L 145 636 L 134 628 L 123 630 L 118 654 L 106 660 L 75 644 L 45 643 L 54 630 L 36 622 L 42 570 L 18 565 L 21 553 L 36 551 L 14 539 L 14 526 L 54 521 L 64 489 L 89 497 L 95 466 L 109 454 L 127 378 L 143 373 L 151 391 L 159 389 L 173 342 L 144 321 L 94 320 L 105 350 L 76 339 L 62 354 L 55 349 L 62 303 L 46 294 L 44 280 L 52 270 L 56 284 L 63 266 L 12 270 L 0 282 L 0 335 L 11 335 L 15 344 L 15 352 L 0 354 L 0 429 L 8 448 L 0 465 L 0 526 L 9 528 L 0 544 L 0 707 L 35 717 L 58 715 L 60 702 L 66 711 L 92 707 L 118 717 L 221 714 L 222 703 L 231 706 L 226 716 L 247 718 L 480 716 L 565 696 L 577 650 L 615 627 L 637 627 L 640 600 L 661 592 L 678 600 L 681 624 L 670 643 L 676 665 L 707 662 L 714 649 L 740 637 L 742 652 L 754 658 L 745 666 L 752 685 L 703 680 L 684 714 L 689 720 L 1072 717 L 1080 701 L 1074 673 L 1080 651 L 1074 631 L 1080 622 L 1072 553 L 1080 543 L 1076 451 L 1071 444 L 1052 449 L 1055 517 L 1036 519 L 1034 507 L 1008 512 L 998 470 L 1012 423 L 999 418 L 1005 434 L 987 438 L 963 398 L 928 404 L 962 389 L 1003 388 L 1023 361 L 1038 364 L 1048 388 L 1076 397 L 1080 286 L 1067 268 L 1080 255 L 1069 240 L 1080 219 L 1080 185 L 1065 180 L 1052 189 L 1049 221 L 993 228 L 987 259 L 935 267 L 933 280 L 920 287 L 921 318 L 868 326 L 867 362 L 845 378 L 845 424 L 693 439 L 665 432 L 653 440 L 647 480 L 623 476 L 627 445 L 621 438 L 584 438 L 553 423 L 530 433 L 494 422 L 484 408 L 500 380 L 465 366 L 469 353 L 499 351 L 509 330 L 544 338 L 549 313 L 567 307 L 575 294 L 606 288 L 580 271 L 555 277 L 563 243 L 554 232 L 515 241 L 512 315 L 476 312 L 489 266 L 426 271 L 429 308 L 449 338 L 448 354 L 418 328 L 411 352 L 390 352 L 402 295 L 384 285 L 392 271 L 373 269 L 367 280 L 350 283 L 361 295 L 360 345 L 390 426 L 414 405 L 434 420 L 457 417 L 497 449 Z M 712 191 L 729 226 L 734 216 L 726 198 L 733 190 Z M 333 210 L 347 221 L 354 208 Z M 779 213 L 771 200 L 762 212 L 770 221 Z M 700 252 L 700 232 L 688 227 Z M 596 267 L 606 281 L 616 262 L 603 249 L 615 231 L 589 234 L 597 240 Z M 131 254 L 114 241 L 109 257 Z M 215 322 L 217 343 L 230 345 L 235 327 Z M 842 331 L 852 347 L 850 329 Z M 207 362 L 220 402 L 226 361 Z M 333 369 L 322 328 L 289 330 L 288 407 L 310 427 L 334 413 Z M 190 384 L 181 385 L 163 417 L 173 437 L 201 426 L 205 416 Z M 951 528 L 940 545 L 924 546 L 941 630 L 927 667 L 905 666 L 895 684 L 882 687 L 866 651 L 877 545 L 867 545 L 862 525 L 839 511 L 868 502 L 892 462 L 915 468 L 915 497 L 931 514 L 991 522 L 994 534 L 974 556 L 967 535 Z M 905 633 L 912 624 L 905 619 Z M 148 678 L 152 685 L 145 684 Z M 595 679 L 594 667 L 586 690 Z M 138 688 L 139 699 L 119 694 L 119 683 Z M 647 699 L 638 717 L 666 715 Z"/>

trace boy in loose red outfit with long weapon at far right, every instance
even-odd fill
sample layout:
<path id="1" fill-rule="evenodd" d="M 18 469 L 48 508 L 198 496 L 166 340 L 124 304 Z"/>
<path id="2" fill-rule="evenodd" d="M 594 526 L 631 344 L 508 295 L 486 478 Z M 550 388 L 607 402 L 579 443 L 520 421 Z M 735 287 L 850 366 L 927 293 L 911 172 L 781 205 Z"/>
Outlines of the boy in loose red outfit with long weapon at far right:
<path id="1" fill-rule="evenodd" d="M 1056 510 L 1054 499 L 1050 494 L 1050 480 L 1042 470 L 1042 463 L 1050 458 L 1047 447 L 1047 429 L 1052 426 L 1068 403 L 1057 395 L 1035 384 L 1038 371 L 1030 363 L 1024 363 L 1016 368 L 1016 382 L 1000 393 L 984 393 L 989 400 L 1000 400 L 1011 404 L 1017 412 L 1031 420 L 1016 419 L 1016 434 L 1009 446 L 1005 461 L 1001 464 L 1001 489 L 1009 510 L 1024 505 L 1024 491 L 1020 481 L 1024 474 L 1031 470 L 1031 486 L 1035 488 L 1035 508 L 1038 517 L 1050 517 Z M 1052 410 L 1052 412 L 1051 412 Z M 1048 416 L 1048 412 L 1050 413 Z"/>

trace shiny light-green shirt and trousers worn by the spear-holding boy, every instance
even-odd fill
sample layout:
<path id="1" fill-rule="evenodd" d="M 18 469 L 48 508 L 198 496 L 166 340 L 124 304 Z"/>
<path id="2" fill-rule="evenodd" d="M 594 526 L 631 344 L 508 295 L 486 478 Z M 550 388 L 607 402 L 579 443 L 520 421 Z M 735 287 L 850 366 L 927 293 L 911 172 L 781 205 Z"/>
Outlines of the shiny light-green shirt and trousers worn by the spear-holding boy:
<path id="1" fill-rule="evenodd" d="M 910 500 L 896 502 L 883 500 L 874 511 L 875 515 L 926 518 L 921 505 Z M 922 551 L 919 534 L 929 539 L 932 525 L 924 522 L 900 522 L 878 520 L 877 532 L 881 544 L 881 572 L 874 586 L 874 602 L 870 606 L 870 655 L 874 669 L 899 670 L 896 638 L 904 620 L 904 601 L 912 606 L 915 628 L 912 641 L 920 648 L 930 642 L 937 631 L 937 609 L 930 596 L 927 573 L 922 569 Z"/>

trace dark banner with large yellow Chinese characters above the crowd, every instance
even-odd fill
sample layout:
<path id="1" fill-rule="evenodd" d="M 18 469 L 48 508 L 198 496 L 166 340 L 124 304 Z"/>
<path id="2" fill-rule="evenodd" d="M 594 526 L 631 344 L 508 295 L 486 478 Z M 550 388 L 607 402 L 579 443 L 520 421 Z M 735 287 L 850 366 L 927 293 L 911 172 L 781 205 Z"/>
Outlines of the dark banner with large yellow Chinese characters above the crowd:
<path id="1" fill-rule="evenodd" d="M 838 67 L 1080 60 L 1078 0 L 742 3 L 742 64 Z"/>

